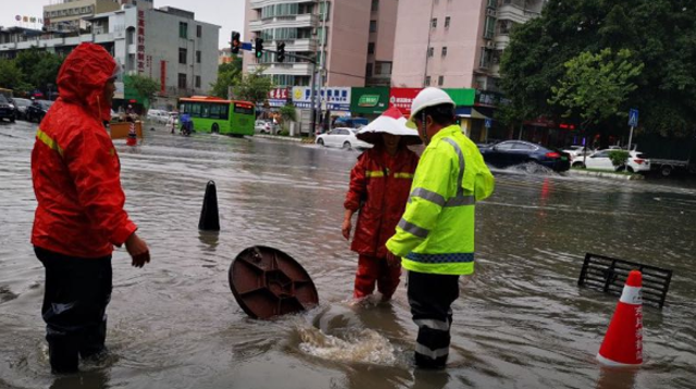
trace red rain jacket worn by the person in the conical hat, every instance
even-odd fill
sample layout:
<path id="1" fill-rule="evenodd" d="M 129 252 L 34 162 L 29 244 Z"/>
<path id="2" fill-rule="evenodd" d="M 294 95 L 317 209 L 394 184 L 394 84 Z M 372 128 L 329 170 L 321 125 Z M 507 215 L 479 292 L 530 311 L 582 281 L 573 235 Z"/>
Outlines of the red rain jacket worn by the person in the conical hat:
<path id="1" fill-rule="evenodd" d="M 384 244 L 401 219 L 409 199 L 418 155 L 401 147 L 390 156 L 375 146 L 358 156 L 350 172 L 350 188 L 344 206 L 358 211 L 358 224 L 350 249 L 360 254 L 385 258 Z"/>

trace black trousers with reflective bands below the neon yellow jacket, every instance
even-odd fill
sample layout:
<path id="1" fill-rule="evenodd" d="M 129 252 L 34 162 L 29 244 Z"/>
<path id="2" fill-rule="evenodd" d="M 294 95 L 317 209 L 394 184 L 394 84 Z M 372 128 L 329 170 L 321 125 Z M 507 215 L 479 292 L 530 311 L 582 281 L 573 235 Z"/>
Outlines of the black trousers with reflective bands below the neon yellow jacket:
<path id="1" fill-rule="evenodd" d="M 459 297 L 459 276 L 409 272 L 408 298 L 418 325 L 415 365 L 445 367 L 449 356 L 451 304 Z"/>

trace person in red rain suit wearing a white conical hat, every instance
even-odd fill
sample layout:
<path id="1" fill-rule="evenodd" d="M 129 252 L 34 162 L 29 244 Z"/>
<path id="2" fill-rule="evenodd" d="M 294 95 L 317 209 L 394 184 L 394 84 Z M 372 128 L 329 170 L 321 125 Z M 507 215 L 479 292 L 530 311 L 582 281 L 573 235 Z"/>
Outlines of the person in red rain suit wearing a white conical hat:
<path id="1" fill-rule="evenodd" d="M 399 285 L 401 265 L 384 244 L 403 214 L 418 165 L 418 155 L 407 145 L 420 140 L 415 130 L 406 127 L 406 118 L 396 108 L 387 110 L 357 136 L 374 148 L 358 158 L 344 202 L 341 233 L 346 239 L 350 238 L 352 214 L 359 211 L 350 246 L 360 254 L 353 298 L 372 294 L 376 284 L 382 300 L 388 301 Z"/>

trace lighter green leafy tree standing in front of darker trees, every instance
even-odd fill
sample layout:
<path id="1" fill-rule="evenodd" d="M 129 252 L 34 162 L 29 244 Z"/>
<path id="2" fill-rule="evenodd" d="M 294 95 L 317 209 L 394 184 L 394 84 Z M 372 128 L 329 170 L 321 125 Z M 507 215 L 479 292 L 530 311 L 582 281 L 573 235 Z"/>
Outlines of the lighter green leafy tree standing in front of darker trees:
<path id="1" fill-rule="evenodd" d="M 597 54 L 582 52 L 566 62 L 566 74 L 551 86 L 550 104 L 566 109 L 564 117 L 581 124 L 583 131 L 589 124 L 598 124 L 620 114 L 619 109 L 637 86 L 632 83 L 644 65 L 631 62 L 631 51 L 611 49 Z M 623 113 L 622 116 L 625 116 Z"/>

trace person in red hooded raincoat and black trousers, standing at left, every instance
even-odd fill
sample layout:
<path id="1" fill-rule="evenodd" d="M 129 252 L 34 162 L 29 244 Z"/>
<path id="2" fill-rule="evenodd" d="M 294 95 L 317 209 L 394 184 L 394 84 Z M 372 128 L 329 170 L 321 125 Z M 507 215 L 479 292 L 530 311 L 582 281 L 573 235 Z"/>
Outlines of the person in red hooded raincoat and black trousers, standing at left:
<path id="1" fill-rule="evenodd" d="M 105 352 L 111 254 L 125 243 L 133 266 L 148 247 L 124 211 L 111 118 L 119 65 L 98 45 L 79 45 L 58 74 L 60 98 L 36 134 L 32 178 L 38 201 L 32 243 L 46 268 L 41 313 L 53 373 L 77 371 L 78 355 Z"/>

